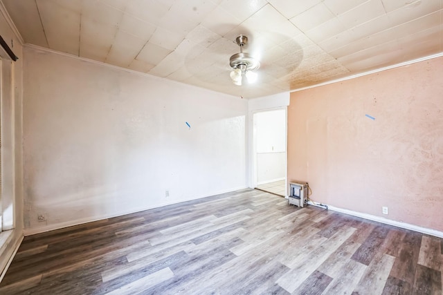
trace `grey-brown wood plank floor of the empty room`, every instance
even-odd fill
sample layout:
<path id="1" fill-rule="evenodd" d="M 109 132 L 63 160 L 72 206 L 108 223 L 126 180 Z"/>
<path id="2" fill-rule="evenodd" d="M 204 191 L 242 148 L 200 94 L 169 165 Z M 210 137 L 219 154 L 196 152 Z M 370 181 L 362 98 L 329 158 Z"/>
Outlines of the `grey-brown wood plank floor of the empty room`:
<path id="1" fill-rule="evenodd" d="M 246 189 L 28 236 L 0 294 L 442 294 L 442 249 Z"/>

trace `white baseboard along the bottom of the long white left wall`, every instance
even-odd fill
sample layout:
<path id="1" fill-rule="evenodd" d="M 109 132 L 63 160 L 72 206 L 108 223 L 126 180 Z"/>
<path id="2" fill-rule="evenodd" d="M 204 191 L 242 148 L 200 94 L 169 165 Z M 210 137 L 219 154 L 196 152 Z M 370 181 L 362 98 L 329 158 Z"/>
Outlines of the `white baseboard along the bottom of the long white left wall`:
<path id="1" fill-rule="evenodd" d="M 114 218 L 117 216 L 123 216 L 123 215 L 127 215 L 127 214 L 131 214 L 131 213 L 136 213 L 136 212 L 141 212 L 141 211 L 145 211 L 145 210 L 150 210 L 150 209 L 154 209 L 154 208 L 160 208 L 160 207 L 165 207 L 171 204 L 179 204 L 182 202 L 188 202 L 188 201 L 192 201 L 192 200 L 198 200 L 201 198 L 206 198 L 206 197 L 210 197 L 210 196 L 217 196 L 221 193 L 229 193 L 231 191 L 238 191 L 240 189 L 247 189 L 248 187 L 244 186 L 244 187 L 236 187 L 233 189 L 225 189 L 225 190 L 221 190 L 221 191 L 214 191 L 212 193 L 209 193 L 208 195 L 205 196 L 197 196 L 194 198 L 188 198 L 185 200 L 177 200 L 177 201 L 172 201 L 172 202 L 165 202 L 163 204 L 157 204 L 156 206 L 150 206 L 150 207 L 143 207 L 140 209 L 136 209 L 136 210 L 132 210 L 132 211 L 125 211 L 125 212 L 120 212 L 120 213 L 116 213 L 116 214 L 109 214 L 109 215 L 103 215 L 103 216 L 96 216 L 94 218 L 82 218 L 82 219 L 78 219 L 78 220 L 70 220 L 70 221 L 66 221 L 66 222 L 59 222 L 53 225 L 46 225 L 44 227 L 35 227 L 35 228 L 31 228 L 31 229 L 24 229 L 23 234 L 24 236 L 32 236 L 35 234 L 42 234 L 46 231 L 54 231 L 56 229 L 63 229 L 65 227 L 74 227 L 75 225 L 83 225 L 84 223 L 89 223 L 89 222 L 94 222 L 94 221 L 98 221 L 98 220 L 104 220 L 107 218 Z"/>

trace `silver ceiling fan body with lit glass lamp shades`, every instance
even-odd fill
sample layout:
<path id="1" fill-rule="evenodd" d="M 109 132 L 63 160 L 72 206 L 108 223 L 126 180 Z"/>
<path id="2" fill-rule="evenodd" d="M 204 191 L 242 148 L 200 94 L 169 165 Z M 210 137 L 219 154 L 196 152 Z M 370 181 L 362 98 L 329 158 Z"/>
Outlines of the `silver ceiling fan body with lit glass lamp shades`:
<path id="1" fill-rule="evenodd" d="M 243 46 L 248 44 L 248 37 L 239 35 L 235 39 L 235 43 L 240 46 L 240 52 L 235 53 L 229 59 L 229 65 L 233 68 L 230 72 L 230 79 L 233 80 L 233 84 L 238 86 L 242 86 L 243 77 L 246 77 L 249 83 L 253 83 L 257 80 L 257 73 L 253 70 L 260 68 L 260 61 L 243 52 Z"/>

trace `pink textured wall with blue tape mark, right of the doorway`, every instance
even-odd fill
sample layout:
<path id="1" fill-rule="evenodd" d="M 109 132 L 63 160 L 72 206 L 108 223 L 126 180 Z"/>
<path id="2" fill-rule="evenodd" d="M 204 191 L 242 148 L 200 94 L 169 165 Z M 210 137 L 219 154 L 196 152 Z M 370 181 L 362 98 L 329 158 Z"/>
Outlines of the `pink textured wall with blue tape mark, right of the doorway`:
<path id="1" fill-rule="evenodd" d="M 443 57 L 291 93 L 288 180 L 317 202 L 443 231 Z"/>

